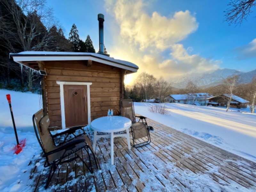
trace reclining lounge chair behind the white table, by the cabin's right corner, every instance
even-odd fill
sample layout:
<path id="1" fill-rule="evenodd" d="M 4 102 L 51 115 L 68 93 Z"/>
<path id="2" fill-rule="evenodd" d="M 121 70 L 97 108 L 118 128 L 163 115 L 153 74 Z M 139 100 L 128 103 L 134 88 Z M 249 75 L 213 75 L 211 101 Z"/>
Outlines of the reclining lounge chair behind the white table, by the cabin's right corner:
<path id="1" fill-rule="evenodd" d="M 133 144 L 131 143 L 131 145 L 137 148 L 149 144 L 151 140 L 149 127 L 146 121 L 147 117 L 135 116 L 134 105 L 131 99 L 121 100 L 121 107 L 122 116 L 127 117 L 132 121 L 131 132 Z M 136 117 L 140 118 L 138 122 L 136 122 Z"/>

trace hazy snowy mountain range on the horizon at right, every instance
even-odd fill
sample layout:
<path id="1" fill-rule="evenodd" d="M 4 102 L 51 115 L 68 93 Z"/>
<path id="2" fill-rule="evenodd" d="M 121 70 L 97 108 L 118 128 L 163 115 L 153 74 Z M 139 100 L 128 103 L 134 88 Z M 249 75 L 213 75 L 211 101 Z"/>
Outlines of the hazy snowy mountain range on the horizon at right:
<path id="1" fill-rule="evenodd" d="M 238 83 L 250 83 L 256 77 L 256 69 L 250 72 L 241 72 L 235 69 L 217 69 L 204 73 L 191 73 L 186 76 L 178 76 L 171 78 L 169 81 L 172 87 L 179 89 L 185 88 L 188 81 L 192 81 L 198 87 L 211 87 L 223 84 L 223 80 L 227 77 L 238 75 Z"/>

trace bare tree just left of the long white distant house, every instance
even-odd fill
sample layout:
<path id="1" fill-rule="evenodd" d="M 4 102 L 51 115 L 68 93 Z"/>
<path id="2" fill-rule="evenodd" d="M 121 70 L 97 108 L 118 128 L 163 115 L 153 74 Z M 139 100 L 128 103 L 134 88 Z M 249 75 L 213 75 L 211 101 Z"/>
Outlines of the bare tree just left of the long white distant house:
<path id="1" fill-rule="evenodd" d="M 161 102 L 164 102 L 164 97 L 168 92 L 171 92 L 171 84 L 164 80 L 164 77 L 160 77 L 156 81 L 155 86 L 156 96 L 160 99 Z"/>

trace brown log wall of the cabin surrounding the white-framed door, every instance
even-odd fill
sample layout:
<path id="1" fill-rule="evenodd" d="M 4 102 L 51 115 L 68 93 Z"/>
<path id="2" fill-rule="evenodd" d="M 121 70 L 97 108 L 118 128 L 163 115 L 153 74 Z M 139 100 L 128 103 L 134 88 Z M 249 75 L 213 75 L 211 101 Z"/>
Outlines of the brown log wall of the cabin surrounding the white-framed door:
<path id="1" fill-rule="evenodd" d="M 84 61 L 46 61 L 44 76 L 47 94 L 47 109 L 50 126 L 61 127 L 60 85 L 56 81 L 91 82 L 91 120 L 106 116 L 108 109 L 119 114 L 122 93 L 122 69 L 113 68 L 92 61 L 87 66 Z"/>

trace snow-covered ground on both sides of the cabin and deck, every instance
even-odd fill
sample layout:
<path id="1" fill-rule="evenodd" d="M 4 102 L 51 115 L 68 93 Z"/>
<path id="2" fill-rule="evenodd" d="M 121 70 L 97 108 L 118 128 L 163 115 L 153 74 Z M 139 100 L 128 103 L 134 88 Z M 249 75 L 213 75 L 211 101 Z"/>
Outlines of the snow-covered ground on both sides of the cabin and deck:
<path id="1" fill-rule="evenodd" d="M 16 139 L 6 94 L 11 94 L 19 140 L 27 140 L 18 155 L 12 151 Z M 28 163 L 41 153 L 32 115 L 42 108 L 41 99 L 37 94 L 8 90 L 0 90 L 0 99 L 0 191 L 30 191 L 26 185 L 33 165 Z M 166 103 L 170 115 L 161 115 L 148 111 L 149 106 L 160 104 L 134 105 L 140 115 L 256 162 L 256 114 L 251 114 L 249 109 L 231 108 L 226 112 L 225 108 Z"/>

